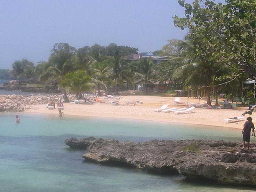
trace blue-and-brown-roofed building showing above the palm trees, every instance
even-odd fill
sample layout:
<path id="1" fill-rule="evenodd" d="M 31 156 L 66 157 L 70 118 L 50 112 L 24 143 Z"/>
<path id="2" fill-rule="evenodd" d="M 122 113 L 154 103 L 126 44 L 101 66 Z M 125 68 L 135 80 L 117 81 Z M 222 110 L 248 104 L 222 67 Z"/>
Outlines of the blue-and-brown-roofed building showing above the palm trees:
<path id="1" fill-rule="evenodd" d="M 153 54 L 151 51 L 142 52 L 139 54 L 130 54 L 130 55 L 124 56 L 124 58 L 130 61 L 136 61 L 142 58 L 150 58 L 154 63 L 157 63 L 157 64 L 168 60 L 168 56 L 157 56 Z"/>

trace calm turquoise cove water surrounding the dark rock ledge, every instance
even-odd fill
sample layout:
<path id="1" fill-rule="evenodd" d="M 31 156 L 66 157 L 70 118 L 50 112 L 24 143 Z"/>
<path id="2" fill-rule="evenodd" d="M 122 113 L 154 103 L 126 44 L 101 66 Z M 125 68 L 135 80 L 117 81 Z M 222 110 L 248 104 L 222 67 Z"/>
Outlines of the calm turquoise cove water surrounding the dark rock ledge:
<path id="1" fill-rule="evenodd" d="M 241 140 L 236 129 L 178 125 L 111 118 L 78 118 L 0 113 L 0 191 L 12 192 L 231 192 L 253 188 L 185 182 L 182 176 L 161 176 L 145 171 L 84 161 L 85 151 L 64 144 L 70 137 L 118 140 L 152 139 Z M 252 142 L 255 139 L 253 138 Z"/>

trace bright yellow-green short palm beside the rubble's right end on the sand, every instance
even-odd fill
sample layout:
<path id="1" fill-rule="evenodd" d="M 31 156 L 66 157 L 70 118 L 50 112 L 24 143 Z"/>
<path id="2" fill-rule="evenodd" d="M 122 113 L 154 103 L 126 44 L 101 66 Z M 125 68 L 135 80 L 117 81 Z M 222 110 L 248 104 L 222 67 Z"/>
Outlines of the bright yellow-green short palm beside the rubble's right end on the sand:
<path id="1" fill-rule="evenodd" d="M 60 83 L 61 87 L 66 88 L 69 92 L 75 93 L 76 99 L 79 99 L 80 93 L 90 91 L 94 85 L 92 78 L 84 70 L 66 74 Z"/>

